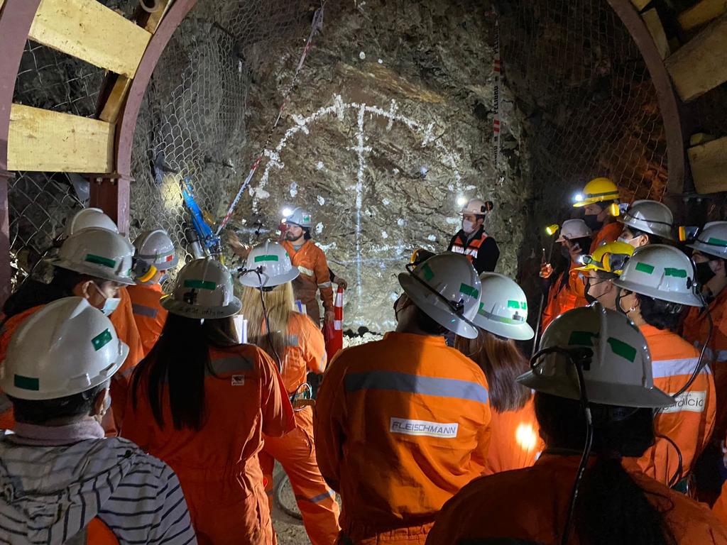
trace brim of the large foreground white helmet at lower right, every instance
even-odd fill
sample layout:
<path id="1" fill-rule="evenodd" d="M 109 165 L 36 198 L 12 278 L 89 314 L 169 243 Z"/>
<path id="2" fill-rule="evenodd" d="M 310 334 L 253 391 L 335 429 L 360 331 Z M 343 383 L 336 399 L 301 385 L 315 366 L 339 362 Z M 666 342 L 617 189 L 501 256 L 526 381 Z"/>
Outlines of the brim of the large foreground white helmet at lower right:
<path id="1" fill-rule="evenodd" d="M 527 371 L 515 379 L 519 384 L 544 394 L 579 400 L 581 392 L 574 377 L 543 376 Z M 674 405 L 675 400 L 658 388 L 644 388 L 631 384 L 606 384 L 589 381 L 586 384 L 588 400 L 602 405 L 619 407 L 661 408 Z"/>

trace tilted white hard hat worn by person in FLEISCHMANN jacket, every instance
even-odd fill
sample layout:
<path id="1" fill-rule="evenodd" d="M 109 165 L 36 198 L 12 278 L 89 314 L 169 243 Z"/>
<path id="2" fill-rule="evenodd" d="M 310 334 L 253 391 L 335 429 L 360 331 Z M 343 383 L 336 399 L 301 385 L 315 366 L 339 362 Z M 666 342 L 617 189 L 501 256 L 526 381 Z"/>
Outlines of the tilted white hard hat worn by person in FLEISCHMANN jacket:
<path id="1" fill-rule="evenodd" d="M 480 279 L 470 260 L 446 251 L 399 274 L 406 295 L 439 325 L 467 339 L 477 337 L 473 319 L 480 307 Z"/>

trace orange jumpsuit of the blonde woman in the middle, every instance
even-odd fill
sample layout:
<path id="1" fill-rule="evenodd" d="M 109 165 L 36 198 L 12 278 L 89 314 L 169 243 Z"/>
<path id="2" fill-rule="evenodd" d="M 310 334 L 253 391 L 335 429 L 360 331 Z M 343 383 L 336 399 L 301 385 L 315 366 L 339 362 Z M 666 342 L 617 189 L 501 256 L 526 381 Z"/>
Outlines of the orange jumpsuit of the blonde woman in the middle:
<path id="1" fill-rule="evenodd" d="M 326 346 L 321 330 L 308 316 L 293 312 L 283 355 L 283 382 L 288 395 L 305 383 L 307 371 L 321 374 L 326 369 Z M 279 461 L 290 479 L 303 524 L 313 545 L 333 544 L 338 532 L 338 503 L 318 469 L 313 444 L 313 409 L 295 413 L 295 429 L 283 437 L 265 435 L 260 466 L 270 506 L 273 501 L 273 469 Z"/>

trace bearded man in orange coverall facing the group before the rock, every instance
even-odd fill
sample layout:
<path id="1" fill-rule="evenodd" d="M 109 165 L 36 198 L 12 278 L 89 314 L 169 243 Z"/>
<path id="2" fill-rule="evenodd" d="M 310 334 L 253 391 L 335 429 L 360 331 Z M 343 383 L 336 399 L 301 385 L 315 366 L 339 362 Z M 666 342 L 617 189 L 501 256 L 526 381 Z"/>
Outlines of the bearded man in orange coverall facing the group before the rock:
<path id="1" fill-rule="evenodd" d="M 310 212 L 301 208 L 294 209 L 285 219 L 285 240 L 281 245 L 288 252 L 293 267 L 297 267 L 300 271 L 300 276 L 293 281 L 295 298 L 305 304 L 310 319 L 320 326 L 321 310 L 318 308 L 316 294 L 318 291 L 321 292 L 324 320 L 332 322 L 335 318 L 333 284 L 326 254 L 310 240 L 312 226 L 313 219 L 310 217 Z"/>

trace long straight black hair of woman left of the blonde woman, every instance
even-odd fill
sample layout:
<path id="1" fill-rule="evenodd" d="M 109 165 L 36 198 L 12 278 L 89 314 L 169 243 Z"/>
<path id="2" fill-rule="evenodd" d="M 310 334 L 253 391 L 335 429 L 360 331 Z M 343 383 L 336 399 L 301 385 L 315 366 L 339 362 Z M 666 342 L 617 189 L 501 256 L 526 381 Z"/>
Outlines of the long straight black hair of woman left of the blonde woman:
<path id="1" fill-rule="evenodd" d="M 159 340 L 134 370 L 134 408 L 145 379 L 151 412 L 160 428 L 164 428 L 162 400 L 168 387 L 174 429 L 201 429 L 205 421 L 204 378 L 207 374 L 215 376 L 209 347 L 237 344 L 233 331 L 231 318 L 203 323 L 170 313 Z"/>

